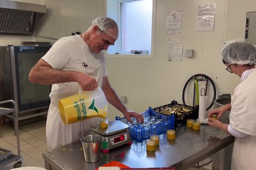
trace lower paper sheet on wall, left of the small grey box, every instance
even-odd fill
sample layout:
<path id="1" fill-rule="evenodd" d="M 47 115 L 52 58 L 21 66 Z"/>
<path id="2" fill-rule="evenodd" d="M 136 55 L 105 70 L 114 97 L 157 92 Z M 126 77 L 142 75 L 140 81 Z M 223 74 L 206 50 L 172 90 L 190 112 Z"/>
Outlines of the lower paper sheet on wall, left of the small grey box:
<path id="1" fill-rule="evenodd" d="M 182 42 L 183 38 L 168 39 L 168 61 L 182 61 Z"/>

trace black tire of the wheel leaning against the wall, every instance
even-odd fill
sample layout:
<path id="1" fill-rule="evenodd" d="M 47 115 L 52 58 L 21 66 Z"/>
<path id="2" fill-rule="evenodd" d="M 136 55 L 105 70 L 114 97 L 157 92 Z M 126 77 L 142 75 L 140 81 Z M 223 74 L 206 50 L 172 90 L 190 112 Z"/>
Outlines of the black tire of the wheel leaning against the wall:
<path id="1" fill-rule="evenodd" d="M 185 91 L 186 91 L 186 87 L 187 85 L 189 84 L 189 82 L 193 79 L 195 79 L 196 77 L 198 76 L 201 76 L 203 78 L 206 78 L 208 79 L 211 83 L 212 83 L 212 88 L 213 88 L 213 99 L 212 99 L 212 102 L 211 104 L 209 105 L 209 107 L 206 109 L 207 111 L 212 107 L 213 103 L 214 103 L 214 100 L 216 98 L 216 88 L 215 88 L 215 84 L 213 83 L 212 79 L 210 77 L 208 77 L 207 75 L 204 75 L 204 74 L 195 74 L 194 76 L 190 77 L 188 79 L 188 81 L 185 83 L 184 85 L 184 88 L 183 88 L 183 91 L 182 91 L 182 102 L 183 102 L 183 105 L 186 105 L 186 102 L 185 102 Z"/>

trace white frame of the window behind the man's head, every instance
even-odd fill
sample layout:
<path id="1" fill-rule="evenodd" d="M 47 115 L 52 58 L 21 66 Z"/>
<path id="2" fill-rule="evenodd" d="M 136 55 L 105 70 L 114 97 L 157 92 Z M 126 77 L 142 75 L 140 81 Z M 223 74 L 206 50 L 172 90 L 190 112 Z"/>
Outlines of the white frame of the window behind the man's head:
<path id="1" fill-rule="evenodd" d="M 107 16 L 107 2 L 105 0 L 105 15 Z M 118 10 L 117 10 L 117 20 L 116 23 L 119 28 L 121 28 L 121 3 L 131 2 L 135 0 L 119 0 Z M 110 58 L 131 58 L 131 59 L 154 59 L 154 46 L 155 46 L 155 28 L 156 28 L 156 0 L 152 0 L 152 28 L 151 28 L 151 54 L 108 54 L 108 51 L 104 51 L 106 57 Z M 115 42 L 115 45 L 119 45 L 121 47 L 121 37 L 120 37 L 120 29 L 119 29 L 119 37 Z M 121 48 L 120 48 L 121 49 Z"/>

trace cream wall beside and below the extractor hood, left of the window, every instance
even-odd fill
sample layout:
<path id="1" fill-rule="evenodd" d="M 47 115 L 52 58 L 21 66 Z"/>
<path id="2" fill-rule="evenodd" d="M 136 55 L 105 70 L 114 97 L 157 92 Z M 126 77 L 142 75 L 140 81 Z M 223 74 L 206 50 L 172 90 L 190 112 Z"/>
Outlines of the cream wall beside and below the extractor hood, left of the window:
<path id="1" fill-rule="evenodd" d="M 101 0 L 14 0 L 47 6 L 45 14 L 33 36 L 0 35 L 0 45 L 20 45 L 21 41 L 47 41 L 52 44 L 72 32 L 84 32 L 96 17 L 104 15 Z M 102 4 L 102 5 L 101 5 Z M 39 36 L 39 37 L 38 37 Z M 49 38 L 40 38 L 49 37 Z M 56 39 L 56 40 L 55 40 Z"/>

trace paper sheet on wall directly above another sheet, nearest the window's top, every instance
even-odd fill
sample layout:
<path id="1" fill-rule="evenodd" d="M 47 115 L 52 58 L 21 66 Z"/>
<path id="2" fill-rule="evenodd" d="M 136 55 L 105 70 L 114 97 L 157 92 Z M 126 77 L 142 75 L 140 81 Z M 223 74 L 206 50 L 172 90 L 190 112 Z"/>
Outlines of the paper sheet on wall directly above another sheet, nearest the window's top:
<path id="1" fill-rule="evenodd" d="M 168 11 L 166 27 L 167 34 L 180 34 L 181 33 L 181 23 L 182 23 L 182 11 L 181 10 L 173 10 Z"/>

